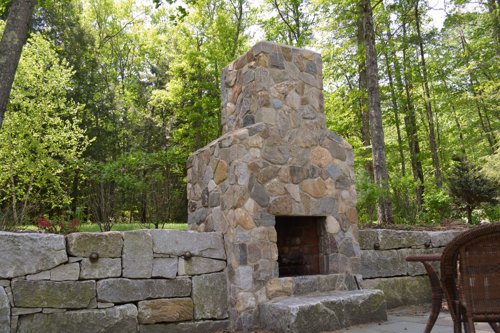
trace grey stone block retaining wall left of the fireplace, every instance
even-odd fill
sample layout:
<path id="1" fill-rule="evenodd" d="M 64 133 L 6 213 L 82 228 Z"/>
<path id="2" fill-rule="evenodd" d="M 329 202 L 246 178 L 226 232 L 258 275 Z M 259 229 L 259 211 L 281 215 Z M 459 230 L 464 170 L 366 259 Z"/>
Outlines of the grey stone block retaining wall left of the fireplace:
<path id="1" fill-rule="evenodd" d="M 226 270 L 218 232 L 0 232 L 0 333 L 222 330 Z"/>

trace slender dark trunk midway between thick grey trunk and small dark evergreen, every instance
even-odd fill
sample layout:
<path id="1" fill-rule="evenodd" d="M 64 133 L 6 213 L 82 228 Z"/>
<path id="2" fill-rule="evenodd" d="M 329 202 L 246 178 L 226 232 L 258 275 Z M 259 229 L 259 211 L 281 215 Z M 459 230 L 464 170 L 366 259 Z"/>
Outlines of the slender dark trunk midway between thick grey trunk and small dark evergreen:
<path id="1" fill-rule="evenodd" d="M 406 20 L 403 19 L 403 39 L 406 41 Z M 417 121 L 415 119 L 415 108 L 413 106 L 412 97 L 410 91 L 413 89 L 411 84 L 411 72 L 409 71 L 409 59 L 407 57 L 406 44 L 403 43 L 403 72 L 405 73 L 405 93 L 406 93 L 406 116 L 405 116 L 405 129 L 406 135 L 408 137 L 408 145 L 410 146 L 410 155 L 412 162 L 413 180 L 418 182 L 417 185 L 417 202 L 418 211 L 422 211 L 424 204 L 424 173 L 422 171 L 422 162 L 419 159 L 420 154 L 420 144 L 417 133 Z M 401 71 L 399 71 L 398 66 L 394 66 L 396 70 L 396 80 L 398 85 L 403 87 L 403 82 L 401 78 Z"/>

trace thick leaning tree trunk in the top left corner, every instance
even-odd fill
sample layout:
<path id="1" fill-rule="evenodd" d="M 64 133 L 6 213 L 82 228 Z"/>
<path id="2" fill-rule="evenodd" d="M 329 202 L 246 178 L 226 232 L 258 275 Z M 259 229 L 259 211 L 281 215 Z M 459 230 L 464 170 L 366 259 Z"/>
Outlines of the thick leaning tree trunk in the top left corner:
<path id="1" fill-rule="evenodd" d="M 37 0 L 13 0 L 0 41 L 0 130 Z"/>

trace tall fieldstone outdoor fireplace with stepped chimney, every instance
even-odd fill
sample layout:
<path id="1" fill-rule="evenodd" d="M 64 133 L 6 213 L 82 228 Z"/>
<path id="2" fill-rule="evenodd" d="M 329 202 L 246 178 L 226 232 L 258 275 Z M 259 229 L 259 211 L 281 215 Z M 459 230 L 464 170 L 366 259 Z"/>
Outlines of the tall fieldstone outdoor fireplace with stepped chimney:
<path id="1" fill-rule="evenodd" d="M 321 54 L 257 43 L 222 70 L 222 137 L 187 161 L 188 229 L 224 234 L 238 329 L 361 272 L 352 146 L 326 129 L 322 89 Z"/>

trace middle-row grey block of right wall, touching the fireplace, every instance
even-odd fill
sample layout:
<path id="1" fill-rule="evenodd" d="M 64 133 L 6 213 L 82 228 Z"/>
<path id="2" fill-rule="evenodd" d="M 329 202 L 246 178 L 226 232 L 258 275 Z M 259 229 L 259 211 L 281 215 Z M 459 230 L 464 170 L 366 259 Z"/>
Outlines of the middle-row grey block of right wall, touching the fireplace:
<path id="1" fill-rule="evenodd" d="M 361 250 L 361 274 L 363 279 L 383 278 L 407 274 L 407 249 Z"/>

